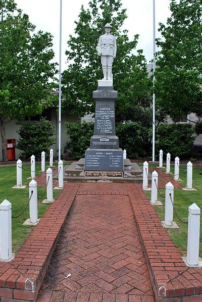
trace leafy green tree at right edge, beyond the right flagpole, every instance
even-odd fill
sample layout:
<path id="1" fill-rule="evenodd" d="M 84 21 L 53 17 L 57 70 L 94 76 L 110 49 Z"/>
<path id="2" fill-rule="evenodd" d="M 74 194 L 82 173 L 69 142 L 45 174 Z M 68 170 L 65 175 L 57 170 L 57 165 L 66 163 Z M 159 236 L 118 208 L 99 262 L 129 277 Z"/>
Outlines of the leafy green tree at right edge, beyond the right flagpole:
<path id="1" fill-rule="evenodd" d="M 171 0 L 172 15 L 160 23 L 163 39 L 156 69 L 157 105 L 179 121 L 183 115 L 202 117 L 202 2 Z"/>

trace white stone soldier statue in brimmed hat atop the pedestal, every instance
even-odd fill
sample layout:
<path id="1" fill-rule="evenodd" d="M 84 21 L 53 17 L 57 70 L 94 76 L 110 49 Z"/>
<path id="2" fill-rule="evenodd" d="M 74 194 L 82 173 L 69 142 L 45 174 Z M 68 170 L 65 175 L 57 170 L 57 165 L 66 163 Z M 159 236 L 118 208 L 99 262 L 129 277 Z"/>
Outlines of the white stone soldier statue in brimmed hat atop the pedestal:
<path id="1" fill-rule="evenodd" d="M 113 80 L 112 64 L 117 52 L 116 37 L 110 33 L 112 26 L 109 23 L 104 28 L 105 34 L 99 37 L 97 52 L 101 57 L 103 80 Z"/>

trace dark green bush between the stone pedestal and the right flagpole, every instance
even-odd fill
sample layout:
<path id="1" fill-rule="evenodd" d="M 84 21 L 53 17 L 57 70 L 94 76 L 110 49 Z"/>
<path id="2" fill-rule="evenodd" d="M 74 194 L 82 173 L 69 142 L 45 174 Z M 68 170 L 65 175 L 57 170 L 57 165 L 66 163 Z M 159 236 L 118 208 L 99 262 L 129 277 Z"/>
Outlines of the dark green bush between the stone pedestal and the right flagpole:
<path id="1" fill-rule="evenodd" d="M 150 151 L 149 130 L 136 122 L 118 123 L 116 134 L 119 146 L 127 150 L 128 156 L 145 157 Z"/>

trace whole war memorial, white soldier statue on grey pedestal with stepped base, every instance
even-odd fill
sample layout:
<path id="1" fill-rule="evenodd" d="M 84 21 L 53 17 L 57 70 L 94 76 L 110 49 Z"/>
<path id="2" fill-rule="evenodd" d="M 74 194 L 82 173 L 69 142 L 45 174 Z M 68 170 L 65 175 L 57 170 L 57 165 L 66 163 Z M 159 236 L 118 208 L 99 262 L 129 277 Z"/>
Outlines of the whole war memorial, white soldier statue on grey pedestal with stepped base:
<path id="1" fill-rule="evenodd" d="M 115 130 L 115 102 L 118 91 L 113 87 L 113 61 L 116 58 L 116 37 L 111 32 L 111 25 L 104 27 L 105 34 L 99 37 L 97 54 L 101 59 L 103 79 L 92 93 L 95 100 L 94 134 L 90 146 L 85 152 L 85 159 L 74 162 L 65 169 L 65 179 L 97 180 L 111 179 L 119 181 L 141 181 L 142 170 L 137 164 L 124 159 L 119 148 L 119 138 Z"/>

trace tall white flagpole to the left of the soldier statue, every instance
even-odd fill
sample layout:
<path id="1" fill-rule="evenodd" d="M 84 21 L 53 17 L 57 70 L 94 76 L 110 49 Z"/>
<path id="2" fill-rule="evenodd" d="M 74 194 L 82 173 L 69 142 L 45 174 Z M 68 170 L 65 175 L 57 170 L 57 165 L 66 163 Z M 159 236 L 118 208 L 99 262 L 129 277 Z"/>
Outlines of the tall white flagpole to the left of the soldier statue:
<path id="1" fill-rule="evenodd" d="M 61 160 L 61 57 L 62 57 L 62 0 L 60 0 L 60 60 L 59 60 L 59 113 L 58 113 L 58 160 Z"/>

